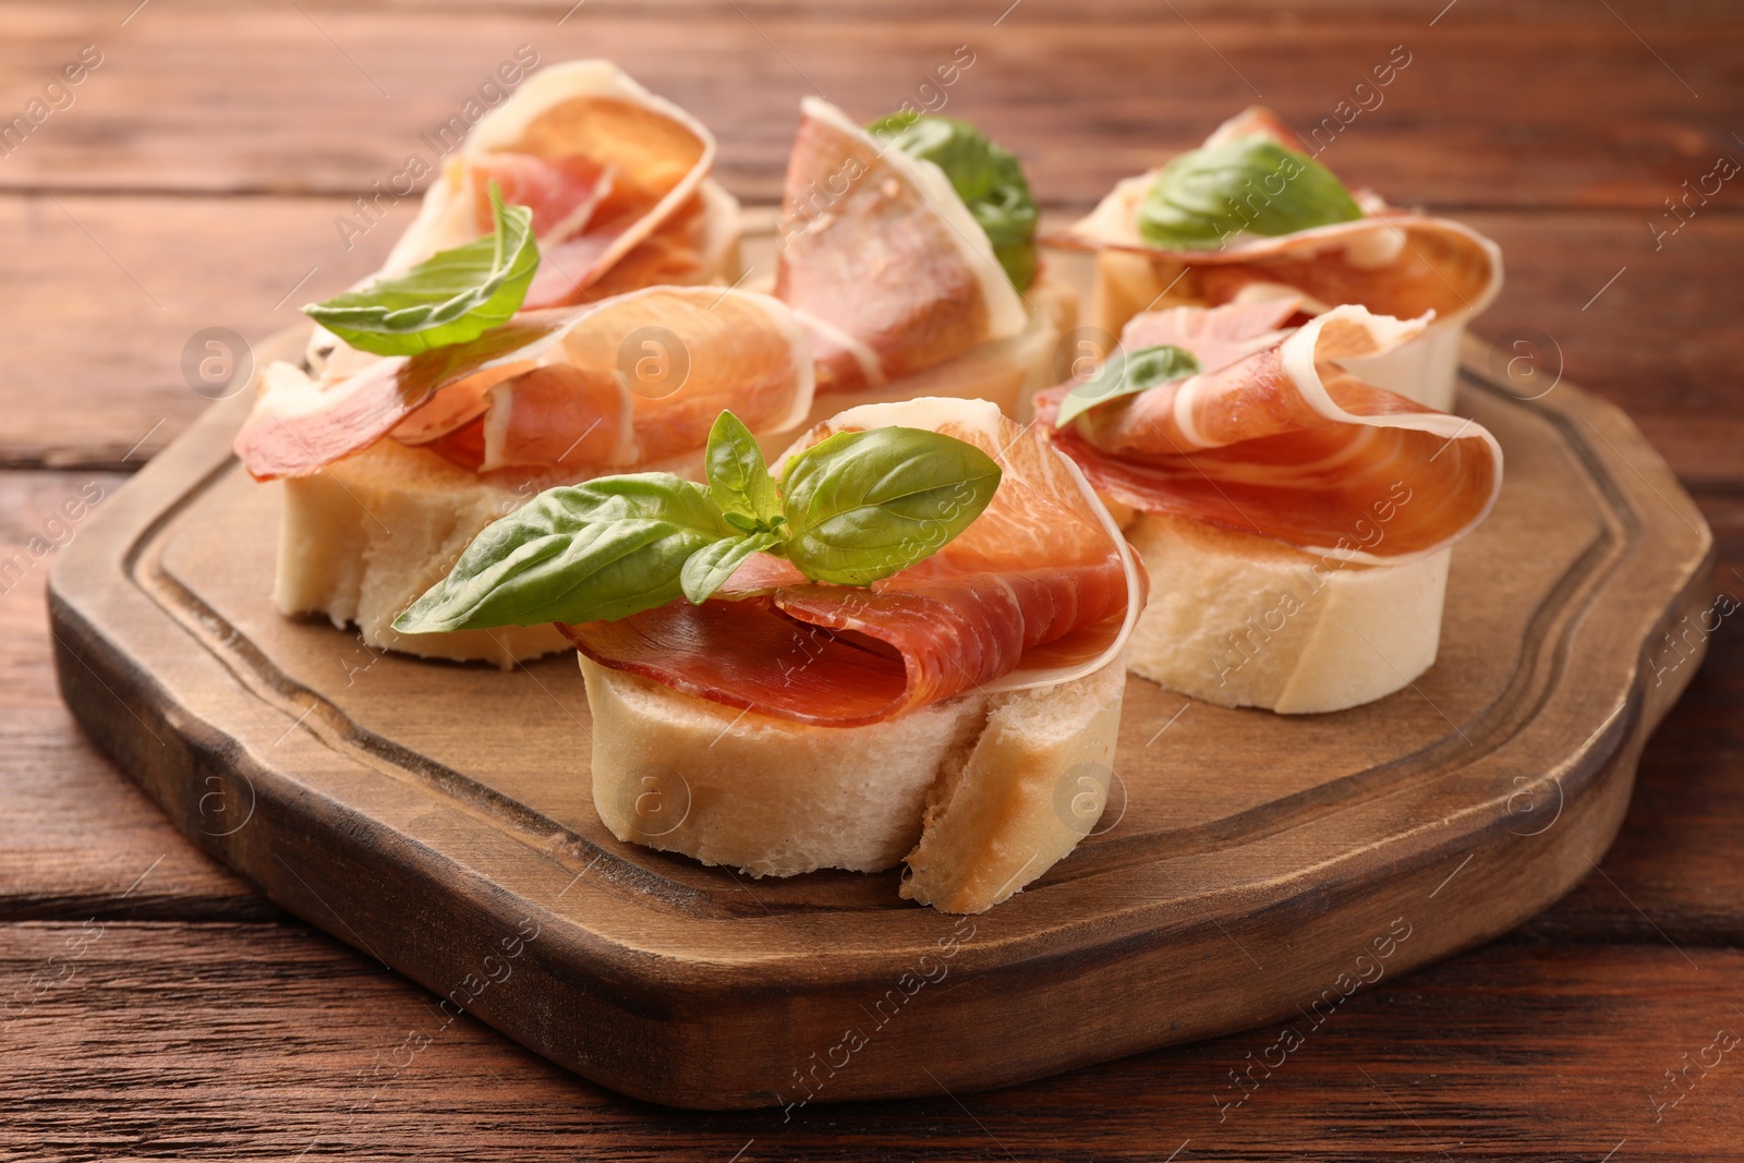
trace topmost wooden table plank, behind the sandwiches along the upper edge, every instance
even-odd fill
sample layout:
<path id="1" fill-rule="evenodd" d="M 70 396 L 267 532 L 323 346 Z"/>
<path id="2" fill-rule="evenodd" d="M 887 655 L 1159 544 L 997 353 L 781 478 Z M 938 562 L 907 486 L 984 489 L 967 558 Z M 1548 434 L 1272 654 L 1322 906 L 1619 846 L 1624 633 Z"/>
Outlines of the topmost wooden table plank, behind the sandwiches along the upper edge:
<path id="1" fill-rule="evenodd" d="M 912 99 L 957 45 L 975 63 L 942 91 L 947 112 L 1013 146 L 1052 202 L 1100 197 L 1256 99 L 1303 126 L 1350 119 L 1329 160 L 1399 202 L 1648 209 L 1741 148 L 1735 9 L 1463 3 L 1435 19 L 1442 7 L 206 0 L 153 3 L 122 26 L 127 5 L 14 2 L 0 9 L 7 108 L 84 44 L 103 65 L 5 159 L 0 185 L 358 194 L 426 148 L 420 134 L 521 44 L 546 61 L 619 59 L 705 117 L 722 178 L 762 201 L 778 194 L 802 94 L 870 119 Z M 1352 115 L 1353 87 L 1395 45 L 1409 66 L 1357 94 L 1373 108 Z"/>

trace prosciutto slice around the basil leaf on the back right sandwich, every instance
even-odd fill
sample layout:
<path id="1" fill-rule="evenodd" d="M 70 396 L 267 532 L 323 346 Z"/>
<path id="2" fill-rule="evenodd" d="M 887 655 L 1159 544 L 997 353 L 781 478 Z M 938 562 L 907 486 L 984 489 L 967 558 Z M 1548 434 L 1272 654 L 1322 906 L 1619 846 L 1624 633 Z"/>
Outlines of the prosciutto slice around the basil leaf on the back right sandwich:
<path id="1" fill-rule="evenodd" d="M 1249 108 L 1219 126 L 1207 146 L 1264 136 L 1311 153 L 1264 108 Z M 1168 302 L 1223 305 L 1250 296 L 1298 293 L 1308 314 L 1360 303 L 1378 314 L 1465 317 L 1484 310 L 1502 289 L 1502 251 L 1470 227 L 1388 207 L 1373 190 L 1357 190 L 1364 216 L 1277 237 L 1236 235 L 1219 249 L 1165 249 L 1139 235 L 1139 207 L 1162 167 L 1127 178 L 1066 234 L 1048 241 L 1080 249 L 1113 249 L 1177 263 Z"/>

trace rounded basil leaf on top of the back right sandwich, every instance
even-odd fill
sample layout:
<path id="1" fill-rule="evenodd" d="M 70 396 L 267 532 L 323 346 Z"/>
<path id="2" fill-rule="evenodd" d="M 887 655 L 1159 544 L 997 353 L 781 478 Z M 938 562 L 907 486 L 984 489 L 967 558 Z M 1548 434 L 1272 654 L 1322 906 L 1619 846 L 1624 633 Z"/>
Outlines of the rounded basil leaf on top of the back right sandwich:
<path id="1" fill-rule="evenodd" d="M 1189 150 L 1156 174 L 1139 207 L 1139 237 L 1170 249 L 1209 249 L 1235 234 L 1273 237 L 1362 218 L 1332 171 L 1271 138 Z"/>

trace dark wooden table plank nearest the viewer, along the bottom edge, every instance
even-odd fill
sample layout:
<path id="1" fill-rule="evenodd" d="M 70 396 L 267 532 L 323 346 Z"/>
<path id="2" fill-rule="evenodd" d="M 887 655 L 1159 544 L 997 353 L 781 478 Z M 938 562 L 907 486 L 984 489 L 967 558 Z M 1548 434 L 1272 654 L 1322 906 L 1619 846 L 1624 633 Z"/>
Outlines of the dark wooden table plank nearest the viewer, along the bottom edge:
<path id="1" fill-rule="evenodd" d="M 0 1153 L 673 1163 L 1730 1158 L 1744 1069 L 1737 1050 L 1711 1046 L 1720 1030 L 1744 1032 L 1741 973 L 1737 950 L 1690 950 L 1685 961 L 1669 949 L 1491 947 L 1411 976 L 1386 973 L 1336 1008 L 1322 1003 L 1308 1017 L 1200 1046 L 994 1093 L 814 1104 L 783 1119 L 781 1111 L 692 1114 L 621 1098 L 471 1017 L 445 1020 L 422 990 L 295 926 L 14 924 L 0 928 L 0 989 L 12 1018 L 0 1029 L 9 1078 Z M 1277 1048 L 1284 1029 L 1301 1037 L 1289 1055 Z M 1720 1065 L 1704 1071 L 1699 1057 Z M 1282 1064 L 1270 1076 L 1264 1065 L 1245 1074 L 1264 1060 Z M 1686 1065 L 1686 1095 L 1671 1105 L 1683 1092 L 1666 1072 Z M 1231 1071 L 1256 1081 L 1245 1083 L 1242 1105 L 1219 1105 L 1243 1093 Z"/>

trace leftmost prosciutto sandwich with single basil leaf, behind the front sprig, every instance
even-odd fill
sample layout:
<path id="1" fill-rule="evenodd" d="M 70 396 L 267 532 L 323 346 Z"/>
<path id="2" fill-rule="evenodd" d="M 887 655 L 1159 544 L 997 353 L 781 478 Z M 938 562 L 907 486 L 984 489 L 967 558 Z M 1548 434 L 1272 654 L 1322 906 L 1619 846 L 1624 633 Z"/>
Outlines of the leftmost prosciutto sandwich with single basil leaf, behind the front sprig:
<path id="1" fill-rule="evenodd" d="M 434 657 L 563 649 L 549 626 L 401 635 L 391 621 L 542 488 L 626 467 L 694 474 L 722 408 L 759 432 L 809 411 L 806 333 L 780 300 L 657 286 L 518 312 L 539 267 L 530 213 L 497 202 L 495 214 L 492 235 L 321 309 L 380 354 L 330 361 L 319 378 L 263 371 L 235 452 L 256 479 L 284 481 L 281 612 Z"/>

